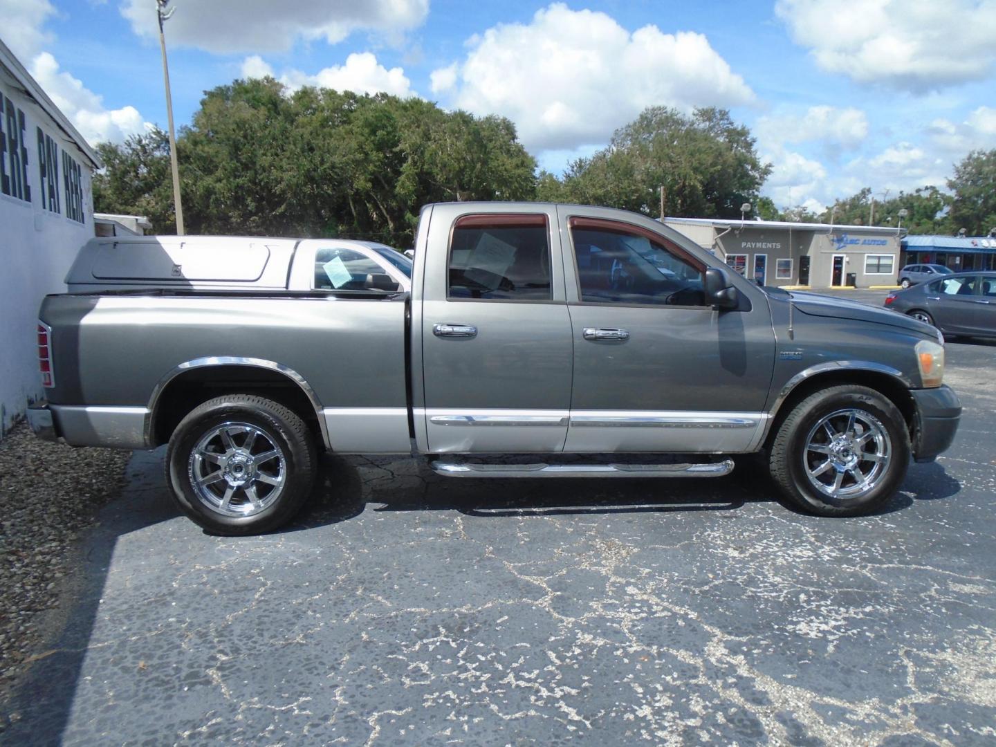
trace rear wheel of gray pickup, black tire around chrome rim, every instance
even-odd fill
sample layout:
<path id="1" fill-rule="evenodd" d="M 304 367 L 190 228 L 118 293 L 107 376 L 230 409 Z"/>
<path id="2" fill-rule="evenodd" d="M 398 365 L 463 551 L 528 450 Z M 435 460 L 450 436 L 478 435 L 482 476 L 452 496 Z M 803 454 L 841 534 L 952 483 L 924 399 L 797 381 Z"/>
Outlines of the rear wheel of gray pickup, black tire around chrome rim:
<path id="1" fill-rule="evenodd" d="M 298 513 L 317 464 L 314 439 L 297 413 L 261 396 L 226 394 L 191 410 L 176 426 L 166 480 L 180 510 L 208 532 L 260 534 Z"/>

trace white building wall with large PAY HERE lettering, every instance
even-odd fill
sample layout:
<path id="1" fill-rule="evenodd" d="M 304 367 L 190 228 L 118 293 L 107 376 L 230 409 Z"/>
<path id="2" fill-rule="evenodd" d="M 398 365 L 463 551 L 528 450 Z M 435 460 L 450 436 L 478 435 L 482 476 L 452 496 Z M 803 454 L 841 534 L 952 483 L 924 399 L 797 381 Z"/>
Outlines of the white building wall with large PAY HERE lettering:
<path id="1" fill-rule="evenodd" d="M 92 164 L 38 105 L 19 93 L 14 79 L 0 67 L 0 94 L 25 116 L 27 183 L 31 202 L 0 193 L 0 436 L 21 415 L 28 402 L 44 397 L 38 373 L 35 327 L 38 307 L 47 293 L 66 291 L 63 279 L 80 247 L 94 235 Z M 37 128 L 58 147 L 60 212 L 43 207 Z M 0 128 L 7 133 L 3 116 Z M 18 132 L 20 134 L 20 132 Z M 83 215 L 67 217 L 63 151 L 82 171 Z M 4 160 L 10 175 L 11 161 Z M 2 191 L 2 190 L 0 190 Z M 58 366 L 58 362 L 56 363 Z M 58 375 L 58 372 L 56 373 Z"/>

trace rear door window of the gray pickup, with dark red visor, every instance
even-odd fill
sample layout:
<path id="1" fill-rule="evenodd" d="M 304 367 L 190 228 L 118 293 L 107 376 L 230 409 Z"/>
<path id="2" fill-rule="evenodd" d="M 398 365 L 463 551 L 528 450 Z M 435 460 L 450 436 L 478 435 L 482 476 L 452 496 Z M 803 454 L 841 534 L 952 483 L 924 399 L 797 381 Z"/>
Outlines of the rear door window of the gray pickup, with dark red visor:
<path id="1" fill-rule="evenodd" d="M 553 298 L 546 215 L 465 215 L 453 226 L 447 298 Z"/>

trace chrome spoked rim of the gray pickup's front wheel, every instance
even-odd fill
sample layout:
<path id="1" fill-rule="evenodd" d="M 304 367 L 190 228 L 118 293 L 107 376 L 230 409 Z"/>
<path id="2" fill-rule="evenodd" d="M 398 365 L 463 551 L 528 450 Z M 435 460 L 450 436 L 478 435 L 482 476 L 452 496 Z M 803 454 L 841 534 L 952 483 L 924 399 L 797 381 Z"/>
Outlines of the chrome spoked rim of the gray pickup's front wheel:
<path id="1" fill-rule="evenodd" d="M 881 481 L 891 447 L 888 431 L 871 412 L 839 409 L 810 430 L 803 467 L 810 484 L 824 495 L 861 498 Z"/>

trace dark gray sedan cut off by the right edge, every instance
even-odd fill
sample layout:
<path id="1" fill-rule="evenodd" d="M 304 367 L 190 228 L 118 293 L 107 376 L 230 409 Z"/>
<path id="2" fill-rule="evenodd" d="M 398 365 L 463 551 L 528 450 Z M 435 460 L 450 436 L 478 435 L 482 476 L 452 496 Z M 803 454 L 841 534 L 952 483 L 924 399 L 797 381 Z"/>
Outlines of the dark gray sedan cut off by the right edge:
<path id="1" fill-rule="evenodd" d="M 895 291 L 885 306 L 945 335 L 996 337 L 996 272 L 959 272 Z"/>

